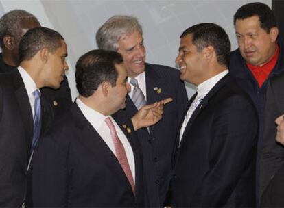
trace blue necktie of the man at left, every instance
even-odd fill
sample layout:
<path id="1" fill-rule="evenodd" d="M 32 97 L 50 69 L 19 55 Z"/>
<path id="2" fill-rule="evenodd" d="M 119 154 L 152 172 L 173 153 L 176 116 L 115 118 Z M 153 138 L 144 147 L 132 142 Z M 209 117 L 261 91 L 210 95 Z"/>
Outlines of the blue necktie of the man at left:
<path id="1" fill-rule="evenodd" d="M 34 148 L 36 147 L 36 143 L 38 142 L 38 138 L 40 137 L 41 129 L 41 105 L 39 90 L 34 90 L 34 92 L 32 92 L 32 95 L 34 96 L 34 134 L 32 136 L 31 152 L 33 152 Z"/>

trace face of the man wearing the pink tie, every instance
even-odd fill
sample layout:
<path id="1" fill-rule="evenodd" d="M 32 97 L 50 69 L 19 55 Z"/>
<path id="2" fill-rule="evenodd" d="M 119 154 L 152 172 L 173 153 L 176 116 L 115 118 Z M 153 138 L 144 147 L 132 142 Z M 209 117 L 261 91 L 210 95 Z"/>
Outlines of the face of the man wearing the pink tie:
<path id="1" fill-rule="evenodd" d="M 115 86 L 110 88 L 110 104 L 113 105 L 113 113 L 117 112 L 119 109 L 126 107 L 126 95 L 130 92 L 130 84 L 127 81 L 127 72 L 123 64 L 116 64 L 115 68 L 117 70 L 117 81 Z"/>

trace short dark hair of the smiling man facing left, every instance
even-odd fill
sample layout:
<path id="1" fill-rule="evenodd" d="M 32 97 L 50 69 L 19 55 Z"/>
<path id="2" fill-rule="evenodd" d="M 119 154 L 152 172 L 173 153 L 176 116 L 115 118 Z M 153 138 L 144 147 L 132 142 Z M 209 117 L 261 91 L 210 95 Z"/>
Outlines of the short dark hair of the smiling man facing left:
<path id="1" fill-rule="evenodd" d="M 180 38 L 192 34 L 192 43 L 198 51 L 205 47 L 213 47 L 217 55 L 217 62 L 228 66 L 230 62 L 230 40 L 226 31 L 214 23 L 201 23 L 186 29 Z"/>

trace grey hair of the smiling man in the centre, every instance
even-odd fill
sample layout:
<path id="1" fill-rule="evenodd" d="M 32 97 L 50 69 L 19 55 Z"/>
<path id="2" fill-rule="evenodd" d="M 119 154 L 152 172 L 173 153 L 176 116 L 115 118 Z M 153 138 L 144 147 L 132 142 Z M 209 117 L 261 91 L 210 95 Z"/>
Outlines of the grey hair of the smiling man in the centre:
<path id="1" fill-rule="evenodd" d="M 99 27 L 95 36 L 99 49 L 117 51 L 117 42 L 123 34 L 132 34 L 138 31 L 143 35 L 142 27 L 134 16 L 115 15 Z"/>

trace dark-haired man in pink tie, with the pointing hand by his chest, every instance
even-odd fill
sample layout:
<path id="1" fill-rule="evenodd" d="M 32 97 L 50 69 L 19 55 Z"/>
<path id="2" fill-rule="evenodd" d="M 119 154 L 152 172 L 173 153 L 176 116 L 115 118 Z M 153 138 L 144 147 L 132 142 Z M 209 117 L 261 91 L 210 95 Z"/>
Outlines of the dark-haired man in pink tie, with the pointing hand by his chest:
<path id="1" fill-rule="evenodd" d="M 144 106 L 132 120 L 119 111 L 130 84 L 115 51 L 82 55 L 75 77 L 78 99 L 40 140 L 34 157 L 34 207 L 144 207 L 135 131 L 158 122 L 169 100 Z"/>

